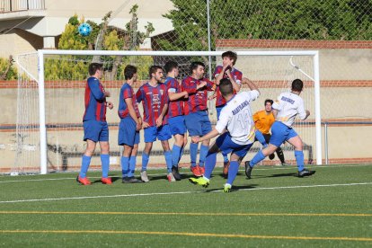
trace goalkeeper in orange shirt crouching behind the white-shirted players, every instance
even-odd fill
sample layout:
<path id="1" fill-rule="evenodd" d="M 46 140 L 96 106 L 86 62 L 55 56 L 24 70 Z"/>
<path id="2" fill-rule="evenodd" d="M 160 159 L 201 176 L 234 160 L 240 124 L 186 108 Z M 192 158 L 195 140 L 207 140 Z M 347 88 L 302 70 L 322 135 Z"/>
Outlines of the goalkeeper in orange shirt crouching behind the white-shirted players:
<path id="1" fill-rule="evenodd" d="M 265 100 L 265 109 L 263 111 L 257 111 L 253 114 L 254 126 L 256 127 L 256 139 L 260 141 L 263 147 L 268 146 L 270 142 L 270 128 L 274 123 L 274 115 L 272 114 L 272 103 L 271 99 Z M 281 165 L 288 165 L 284 159 L 283 150 L 278 147 L 276 153 L 279 157 Z M 269 155 L 270 160 L 274 159 L 275 155 Z"/>

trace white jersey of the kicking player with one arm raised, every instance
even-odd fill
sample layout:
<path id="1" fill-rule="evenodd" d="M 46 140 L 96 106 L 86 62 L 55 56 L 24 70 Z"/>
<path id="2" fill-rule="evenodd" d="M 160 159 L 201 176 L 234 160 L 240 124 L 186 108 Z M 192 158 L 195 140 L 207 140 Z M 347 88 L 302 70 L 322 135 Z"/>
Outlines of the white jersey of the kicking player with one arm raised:
<path id="1" fill-rule="evenodd" d="M 237 93 L 229 102 L 226 102 L 217 121 L 218 133 L 227 129 L 236 144 L 252 144 L 255 128 L 250 103 L 256 100 L 259 95 L 260 93 L 256 90 Z"/>

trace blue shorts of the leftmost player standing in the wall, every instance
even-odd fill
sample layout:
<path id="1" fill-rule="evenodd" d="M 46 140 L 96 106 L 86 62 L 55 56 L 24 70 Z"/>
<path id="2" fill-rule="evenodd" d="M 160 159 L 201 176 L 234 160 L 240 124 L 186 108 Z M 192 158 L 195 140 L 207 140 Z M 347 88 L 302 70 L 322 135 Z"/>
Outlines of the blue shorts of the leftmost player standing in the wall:
<path id="1" fill-rule="evenodd" d="M 85 120 L 84 127 L 84 141 L 90 139 L 94 142 L 109 141 L 109 126 L 106 121 Z"/>

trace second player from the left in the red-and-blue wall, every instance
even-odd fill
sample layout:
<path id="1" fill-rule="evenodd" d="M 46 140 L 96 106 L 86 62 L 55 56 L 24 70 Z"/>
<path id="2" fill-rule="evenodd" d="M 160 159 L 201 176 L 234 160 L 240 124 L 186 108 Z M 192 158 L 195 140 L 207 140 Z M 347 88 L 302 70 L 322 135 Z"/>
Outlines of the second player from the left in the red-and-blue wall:
<path id="1" fill-rule="evenodd" d="M 121 86 L 119 97 L 120 117 L 118 144 L 123 146 L 121 156 L 121 172 L 123 183 L 141 182 L 134 177 L 136 157 L 139 143 L 139 130 L 142 128 L 142 119 L 138 111 L 136 95 L 132 84 L 137 81 L 137 67 L 128 65 L 124 69 L 126 82 Z"/>

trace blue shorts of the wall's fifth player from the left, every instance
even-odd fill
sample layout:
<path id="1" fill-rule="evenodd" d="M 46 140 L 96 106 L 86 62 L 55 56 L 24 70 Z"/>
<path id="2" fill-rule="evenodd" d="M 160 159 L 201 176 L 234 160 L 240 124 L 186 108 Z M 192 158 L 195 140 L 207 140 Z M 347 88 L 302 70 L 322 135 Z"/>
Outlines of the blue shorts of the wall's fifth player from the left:
<path id="1" fill-rule="evenodd" d="M 212 130 L 207 111 L 198 111 L 185 115 L 186 128 L 190 137 L 203 136 Z"/>

